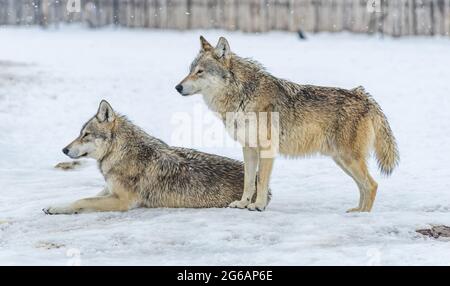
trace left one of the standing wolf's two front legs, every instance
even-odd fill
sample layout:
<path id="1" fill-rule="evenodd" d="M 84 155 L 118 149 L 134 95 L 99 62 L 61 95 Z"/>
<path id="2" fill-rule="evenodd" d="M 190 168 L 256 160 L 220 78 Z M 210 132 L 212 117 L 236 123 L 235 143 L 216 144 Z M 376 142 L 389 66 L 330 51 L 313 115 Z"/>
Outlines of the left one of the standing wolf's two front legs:
<path id="1" fill-rule="evenodd" d="M 243 209 L 251 203 L 251 199 L 255 194 L 256 170 L 258 169 L 258 149 L 244 147 L 244 193 L 240 201 L 232 202 L 230 208 Z"/>

